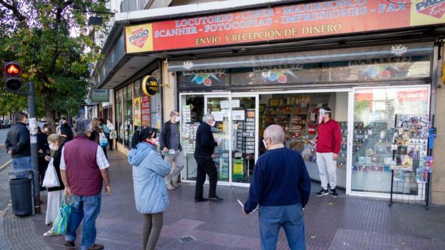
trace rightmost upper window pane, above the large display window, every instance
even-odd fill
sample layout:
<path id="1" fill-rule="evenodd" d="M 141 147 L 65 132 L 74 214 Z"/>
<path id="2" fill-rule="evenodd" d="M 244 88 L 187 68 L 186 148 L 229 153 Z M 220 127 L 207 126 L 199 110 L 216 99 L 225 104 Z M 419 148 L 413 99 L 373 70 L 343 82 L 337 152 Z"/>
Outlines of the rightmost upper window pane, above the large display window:
<path id="1" fill-rule="evenodd" d="M 322 81 L 375 81 L 427 78 L 429 56 L 401 56 L 322 63 Z"/>

